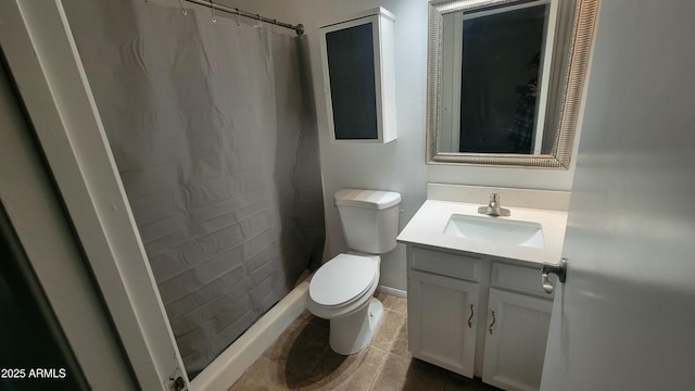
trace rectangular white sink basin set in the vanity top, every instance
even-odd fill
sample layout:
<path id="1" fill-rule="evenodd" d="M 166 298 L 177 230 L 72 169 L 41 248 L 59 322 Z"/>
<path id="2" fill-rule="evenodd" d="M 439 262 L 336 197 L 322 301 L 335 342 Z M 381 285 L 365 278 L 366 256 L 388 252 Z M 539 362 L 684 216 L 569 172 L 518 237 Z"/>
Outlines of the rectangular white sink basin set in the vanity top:
<path id="1" fill-rule="evenodd" d="M 444 228 L 444 234 L 502 244 L 545 248 L 543 226 L 533 222 L 453 214 Z"/>

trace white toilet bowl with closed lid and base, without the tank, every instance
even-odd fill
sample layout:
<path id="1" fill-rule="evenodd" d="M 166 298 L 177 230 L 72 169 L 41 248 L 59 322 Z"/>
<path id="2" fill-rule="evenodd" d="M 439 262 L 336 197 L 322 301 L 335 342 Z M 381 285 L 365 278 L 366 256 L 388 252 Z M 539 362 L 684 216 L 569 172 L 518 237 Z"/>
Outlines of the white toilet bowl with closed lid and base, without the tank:
<path id="1" fill-rule="evenodd" d="M 379 255 L 346 253 L 328 261 L 312 277 L 308 311 L 330 320 L 330 348 L 351 355 L 364 349 L 381 323 L 383 305 L 374 298 Z"/>

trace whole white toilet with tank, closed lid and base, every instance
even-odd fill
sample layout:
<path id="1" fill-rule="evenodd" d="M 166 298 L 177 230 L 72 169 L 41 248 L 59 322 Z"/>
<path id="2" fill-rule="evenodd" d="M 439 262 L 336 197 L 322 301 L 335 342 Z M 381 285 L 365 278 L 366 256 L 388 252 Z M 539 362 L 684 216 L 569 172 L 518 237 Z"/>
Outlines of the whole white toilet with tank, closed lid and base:
<path id="1" fill-rule="evenodd" d="M 401 194 L 342 189 L 334 203 L 350 251 L 316 270 L 308 287 L 308 311 L 330 320 L 330 348 L 350 355 L 364 349 L 383 317 L 374 298 L 379 285 L 379 254 L 395 249 Z"/>

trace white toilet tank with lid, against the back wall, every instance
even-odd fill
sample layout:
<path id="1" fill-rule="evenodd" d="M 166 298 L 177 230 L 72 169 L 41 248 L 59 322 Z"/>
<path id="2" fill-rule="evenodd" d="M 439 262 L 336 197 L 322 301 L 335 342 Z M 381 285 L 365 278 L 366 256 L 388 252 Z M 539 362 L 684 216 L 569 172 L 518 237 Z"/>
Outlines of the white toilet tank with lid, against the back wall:
<path id="1" fill-rule="evenodd" d="M 351 250 L 383 254 L 395 249 L 400 193 L 342 189 L 336 192 L 334 202 Z"/>

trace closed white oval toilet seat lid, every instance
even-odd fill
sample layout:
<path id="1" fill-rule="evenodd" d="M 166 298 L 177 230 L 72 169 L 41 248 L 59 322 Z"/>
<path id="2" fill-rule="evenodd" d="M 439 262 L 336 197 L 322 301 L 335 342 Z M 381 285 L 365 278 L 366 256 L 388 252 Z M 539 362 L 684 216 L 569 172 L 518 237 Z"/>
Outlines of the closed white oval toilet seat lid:
<path id="1" fill-rule="evenodd" d="M 351 304 L 379 278 L 377 265 L 368 256 L 339 254 L 314 274 L 308 287 L 311 300 L 328 308 Z"/>

